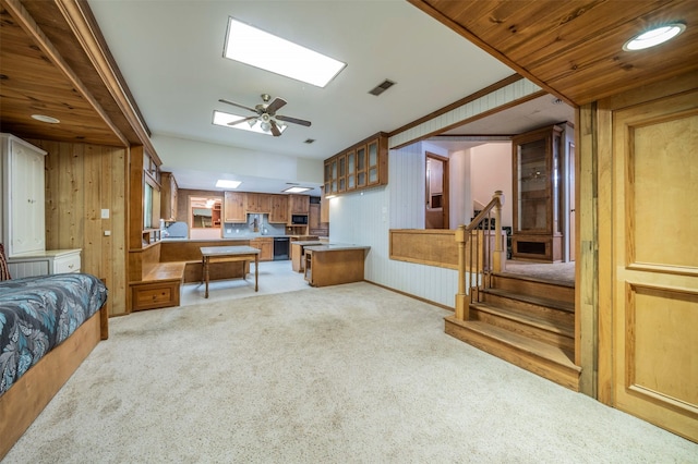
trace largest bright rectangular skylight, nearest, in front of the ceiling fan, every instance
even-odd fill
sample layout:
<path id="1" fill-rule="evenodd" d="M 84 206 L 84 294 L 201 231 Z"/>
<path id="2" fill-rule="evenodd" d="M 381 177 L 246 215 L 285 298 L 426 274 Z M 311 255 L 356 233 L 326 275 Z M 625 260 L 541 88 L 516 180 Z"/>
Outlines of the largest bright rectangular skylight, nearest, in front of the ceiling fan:
<path id="1" fill-rule="evenodd" d="M 228 21 L 224 57 L 317 87 L 326 86 L 347 65 L 233 17 Z"/>

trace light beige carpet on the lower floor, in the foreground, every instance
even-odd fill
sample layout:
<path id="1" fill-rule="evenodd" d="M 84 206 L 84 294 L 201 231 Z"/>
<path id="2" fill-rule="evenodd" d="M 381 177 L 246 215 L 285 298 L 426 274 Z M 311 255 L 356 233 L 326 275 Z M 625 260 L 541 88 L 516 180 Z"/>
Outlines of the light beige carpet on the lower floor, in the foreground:
<path id="1" fill-rule="evenodd" d="M 666 463 L 698 445 L 353 283 L 111 319 L 7 463 Z"/>

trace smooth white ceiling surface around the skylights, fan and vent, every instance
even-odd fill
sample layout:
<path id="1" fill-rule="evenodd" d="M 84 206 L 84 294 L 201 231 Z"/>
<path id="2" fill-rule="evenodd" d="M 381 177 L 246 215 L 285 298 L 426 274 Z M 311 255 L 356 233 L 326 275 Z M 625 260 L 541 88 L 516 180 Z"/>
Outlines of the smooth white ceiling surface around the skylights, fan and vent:
<path id="1" fill-rule="evenodd" d="M 154 136 L 238 147 L 260 157 L 321 161 L 514 74 L 404 0 L 88 3 Z M 318 88 L 224 59 L 228 16 L 345 61 L 347 68 Z M 385 78 L 397 84 L 380 97 L 368 93 Z M 279 114 L 310 120 L 312 126 L 289 124 L 280 137 L 272 137 L 212 124 L 215 109 L 233 109 L 219 98 L 254 107 L 265 93 L 288 101 Z M 571 109 L 552 100 L 545 97 L 449 134 L 513 134 L 571 120 Z M 316 142 L 308 145 L 306 138 Z M 214 178 L 241 178 L 236 172 L 181 170 L 168 162 L 167 152 L 158 149 L 158 156 L 183 188 L 215 190 L 209 183 Z M 279 192 L 296 181 L 282 173 L 243 180 L 244 190 L 253 192 Z"/>

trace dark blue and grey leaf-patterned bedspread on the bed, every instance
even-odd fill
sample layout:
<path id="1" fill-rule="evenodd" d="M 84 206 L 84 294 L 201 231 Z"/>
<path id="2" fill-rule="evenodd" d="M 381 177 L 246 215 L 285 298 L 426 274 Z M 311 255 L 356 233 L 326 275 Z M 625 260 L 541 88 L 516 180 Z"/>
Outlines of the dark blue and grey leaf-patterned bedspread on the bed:
<path id="1" fill-rule="evenodd" d="M 107 288 L 87 273 L 0 282 L 0 395 L 106 301 Z"/>

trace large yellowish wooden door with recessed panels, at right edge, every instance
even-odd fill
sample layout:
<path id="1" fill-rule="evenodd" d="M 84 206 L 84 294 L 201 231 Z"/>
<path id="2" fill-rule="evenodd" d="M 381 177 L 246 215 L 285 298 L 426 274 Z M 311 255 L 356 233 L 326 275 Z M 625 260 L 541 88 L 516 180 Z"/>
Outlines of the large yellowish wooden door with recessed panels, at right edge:
<path id="1" fill-rule="evenodd" d="M 611 356 L 600 375 L 615 407 L 698 441 L 698 89 L 610 114 L 599 289 Z"/>

